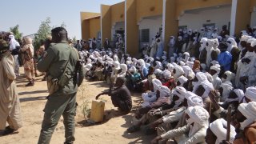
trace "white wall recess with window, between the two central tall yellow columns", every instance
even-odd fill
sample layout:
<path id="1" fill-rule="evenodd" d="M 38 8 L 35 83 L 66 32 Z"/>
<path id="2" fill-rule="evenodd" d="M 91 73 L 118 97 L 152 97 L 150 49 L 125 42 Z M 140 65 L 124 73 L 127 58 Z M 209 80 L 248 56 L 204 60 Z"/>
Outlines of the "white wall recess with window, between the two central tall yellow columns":
<path id="1" fill-rule="evenodd" d="M 145 18 L 142 19 L 141 22 L 139 22 L 138 29 L 150 29 L 150 43 L 152 42 L 152 38 L 159 32 L 159 28 L 162 27 L 162 16 L 159 16 L 158 18 Z M 142 46 L 144 43 L 141 43 L 140 46 Z"/>

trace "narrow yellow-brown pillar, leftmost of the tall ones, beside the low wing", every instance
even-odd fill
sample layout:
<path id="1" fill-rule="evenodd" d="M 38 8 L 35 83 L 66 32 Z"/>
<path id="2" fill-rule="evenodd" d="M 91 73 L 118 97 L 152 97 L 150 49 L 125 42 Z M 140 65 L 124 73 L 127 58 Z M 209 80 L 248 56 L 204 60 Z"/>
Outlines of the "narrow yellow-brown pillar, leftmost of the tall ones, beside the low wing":
<path id="1" fill-rule="evenodd" d="M 111 39 L 111 6 L 102 5 L 102 43 L 105 38 Z"/>

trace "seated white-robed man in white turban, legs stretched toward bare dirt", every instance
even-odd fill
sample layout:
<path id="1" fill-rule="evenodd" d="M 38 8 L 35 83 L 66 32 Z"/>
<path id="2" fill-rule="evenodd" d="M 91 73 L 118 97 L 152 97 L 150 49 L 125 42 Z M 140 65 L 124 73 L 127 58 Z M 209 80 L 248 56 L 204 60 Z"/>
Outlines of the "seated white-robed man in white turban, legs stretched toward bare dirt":
<path id="1" fill-rule="evenodd" d="M 154 138 L 151 143 L 158 143 L 162 139 L 171 139 L 177 143 L 205 142 L 209 118 L 208 111 L 202 106 L 191 106 L 186 110 L 186 114 L 186 126 L 169 130 L 166 134 Z"/>

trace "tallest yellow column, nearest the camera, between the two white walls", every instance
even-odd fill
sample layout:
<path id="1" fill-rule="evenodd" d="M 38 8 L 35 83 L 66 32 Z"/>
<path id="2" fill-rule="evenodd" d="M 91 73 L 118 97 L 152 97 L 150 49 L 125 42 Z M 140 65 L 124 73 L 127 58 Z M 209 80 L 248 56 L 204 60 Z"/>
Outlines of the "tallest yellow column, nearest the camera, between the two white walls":
<path id="1" fill-rule="evenodd" d="M 168 51 L 170 36 L 178 34 L 178 18 L 176 17 L 177 0 L 163 0 L 162 37 L 165 50 Z"/>

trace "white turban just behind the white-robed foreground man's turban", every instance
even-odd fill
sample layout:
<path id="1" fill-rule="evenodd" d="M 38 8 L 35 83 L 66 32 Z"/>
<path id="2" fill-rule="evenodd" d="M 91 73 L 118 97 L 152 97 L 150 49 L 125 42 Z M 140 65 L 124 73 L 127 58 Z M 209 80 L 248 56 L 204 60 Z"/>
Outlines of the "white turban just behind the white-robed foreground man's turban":
<path id="1" fill-rule="evenodd" d="M 185 98 L 187 100 L 187 106 L 203 106 L 202 98 L 197 94 L 194 94 L 190 91 L 186 92 Z"/>

